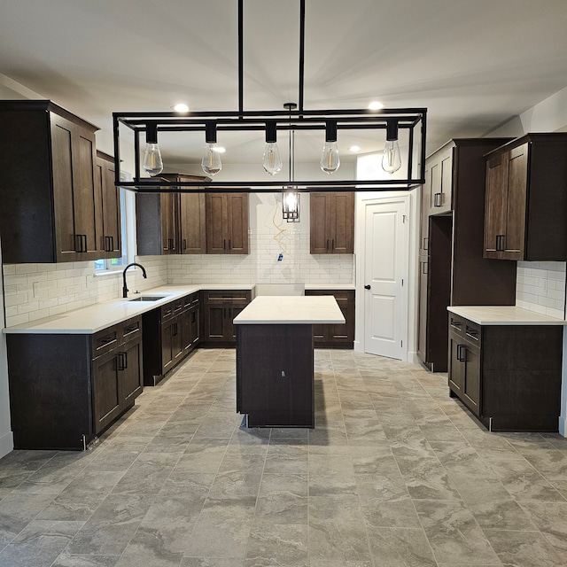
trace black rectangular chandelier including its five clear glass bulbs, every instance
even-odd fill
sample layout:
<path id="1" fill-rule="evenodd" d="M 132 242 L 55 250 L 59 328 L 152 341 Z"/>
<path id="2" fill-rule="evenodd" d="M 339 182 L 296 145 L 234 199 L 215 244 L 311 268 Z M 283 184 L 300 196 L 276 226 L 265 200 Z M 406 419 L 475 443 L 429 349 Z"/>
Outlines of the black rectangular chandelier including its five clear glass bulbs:
<path id="1" fill-rule="evenodd" d="M 244 4 L 245 0 L 237 0 L 238 5 L 238 108 L 234 111 L 208 112 L 188 111 L 183 113 L 144 112 L 144 113 L 113 113 L 114 138 L 114 183 L 118 187 L 135 190 L 136 192 L 259 192 L 273 193 L 274 191 L 290 191 L 293 193 L 340 190 L 411 190 L 425 182 L 425 135 L 426 135 L 426 108 L 375 108 L 366 109 L 338 109 L 326 108 L 322 110 L 306 110 L 304 107 L 305 82 L 305 35 L 306 35 L 306 2 L 299 0 L 299 89 L 298 104 L 284 105 L 286 111 L 246 111 L 244 104 L 245 72 L 244 72 Z M 316 22 L 315 22 L 316 23 Z M 132 181 L 120 180 L 120 140 L 121 128 L 128 128 L 133 134 L 132 145 L 135 148 L 135 168 Z M 296 180 L 290 178 L 290 187 L 276 179 L 239 181 L 196 181 L 176 180 L 168 181 L 159 177 L 163 169 L 163 161 L 158 147 L 157 130 L 160 134 L 184 135 L 197 133 L 206 136 L 206 149 L 201 160 L 201 167 L 206 175 L 213 176 L 221 171 L 222 150 L 216 144 L 217 130 L 229 132 L 229 139 L 235 134 L 263 132 L 266 136 L 266 146 L 262 157 L 262 166 L 269 175 L 276 175 L 281 171 L 281 157 L 277 149 L 276 135 L 283 130 L 290 133 L 291 140 L 298 134 L 301 140 L 309 136 L 310 131 L 318 132 L 321 139 L 324 130 L 325 144 L 321 154 L 320 167 L 328 175 L 313 175 L 311 178 Z M 382 156 L 382 167 L 388 173 L 400 170 L 398 175 L 373 176 L 371 179 L 353 179 L 345 176 L 343 179 L 332 179 L 330 174 L 338 170 L 340 158 L 338 154 L 337 132 L 341 130 L 342 139 L 348 140 L 356 137 L 354 132 L 361 130 L 367 133 L 367 139 L 384 139 L 386 131 L 386 144 Z M 404 156 L 400 158 L 398 132 L 403 131 Z M 370 136 L 368 136 L 370 133 Z M 146 141 L 145 154 L 141 151 L 142 141 Z M 202 138 L 199 138 L 202 139 Z M 311 140 L 307 138 L 309 145 Z M 406 143 L 407 142 L 407 143 Z M 308 147 L 308 145 L 301 146 Z M 144 155 L 144 162 L 142 157 Z M 195 156 L 198 159 L 198 156 Z M 306 160 L 307 156 L 302 155 Z M 315 157 L 316 159 L 316 157 Z M 291 161 L 293 156 L 291 154 Z M 151 177 L 144 177 L 144 172 Z M 228 177 L 221 175 L 221 177 Z M 380 178 L 377 178 L 380 177 Z M 287 199 L 289 204 L 299 202 L 299 199 Z M 299 216 L 299 213 L 297 214 Z M 288 212 L 286 220 L 295 221 L 294 212 Z"/>

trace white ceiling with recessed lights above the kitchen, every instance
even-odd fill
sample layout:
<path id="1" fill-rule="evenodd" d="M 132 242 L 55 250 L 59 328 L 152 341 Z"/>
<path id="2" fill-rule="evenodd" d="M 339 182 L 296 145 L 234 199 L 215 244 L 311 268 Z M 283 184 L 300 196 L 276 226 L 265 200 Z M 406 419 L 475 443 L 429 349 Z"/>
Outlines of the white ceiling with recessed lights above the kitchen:
<path id="1" fill-rule="evenodd" d="M 426 107 L 428 151 L 485 136 L 567 86 L 566 27 L 565 0 L 307 0 L 304 106 Z M 297 102 L 299 0 L 245 0 L 244 50 L 245 110 Z M 180 101 L 236 111 L 237 0 L 4 2 L 0 74 L 107 131 Z"/>

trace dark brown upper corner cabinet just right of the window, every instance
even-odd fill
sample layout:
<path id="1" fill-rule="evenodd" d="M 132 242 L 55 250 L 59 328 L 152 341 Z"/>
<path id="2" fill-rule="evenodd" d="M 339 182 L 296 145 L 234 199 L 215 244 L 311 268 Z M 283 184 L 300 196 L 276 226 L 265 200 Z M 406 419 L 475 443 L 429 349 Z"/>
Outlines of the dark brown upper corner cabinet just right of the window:
<path id="1" fill-rule="evenodd" d="M 168 181 L 208 181 L 207 177 L 161 174 Z M 136 194 L 138 254 L 206 253 L 204 193 Z"/>

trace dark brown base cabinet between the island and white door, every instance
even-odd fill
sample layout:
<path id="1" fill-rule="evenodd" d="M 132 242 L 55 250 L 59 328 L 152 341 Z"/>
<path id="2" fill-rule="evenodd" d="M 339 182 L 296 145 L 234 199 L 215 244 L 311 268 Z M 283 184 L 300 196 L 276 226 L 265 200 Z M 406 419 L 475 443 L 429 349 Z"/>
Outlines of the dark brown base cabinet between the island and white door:
<path id="1" fill-rule="evenodd" d="M 336 325 L 313 325 L 315 348 L 353 348 L 354 343 L 354 290 L 306 290 L 306 295 L 332 295 L 345 317 Z"/>

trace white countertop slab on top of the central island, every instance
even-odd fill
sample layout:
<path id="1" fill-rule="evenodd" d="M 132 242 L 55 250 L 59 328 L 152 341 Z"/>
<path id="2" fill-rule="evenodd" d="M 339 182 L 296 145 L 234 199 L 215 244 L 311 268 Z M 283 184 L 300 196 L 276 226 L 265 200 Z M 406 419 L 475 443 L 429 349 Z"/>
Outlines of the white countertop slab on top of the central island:
<path id="1" fill-rule="evenodd" d="M 344 323 L 337 300 L 330 295 L 260 295 L 233 321 L 237 324 Z"/>

